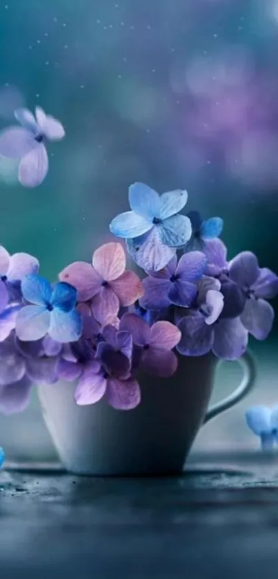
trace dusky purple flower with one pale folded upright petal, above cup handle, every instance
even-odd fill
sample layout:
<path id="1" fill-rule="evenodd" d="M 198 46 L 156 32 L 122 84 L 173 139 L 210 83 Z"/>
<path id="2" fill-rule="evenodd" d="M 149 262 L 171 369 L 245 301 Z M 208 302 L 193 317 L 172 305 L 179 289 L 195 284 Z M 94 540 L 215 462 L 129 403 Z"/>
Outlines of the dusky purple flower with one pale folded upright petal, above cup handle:
<path id="1" fill-rule="evenodd" d="M 235 360 L 244 354 L 248 332 L 239 318 L 219 319 L 224 296 L 208 290 L 199 311 L 190 311 L 178 323 L 181 340 L 177 351 L 183 356 L 203 356 L 212 352 L 221 359 Z"/>

